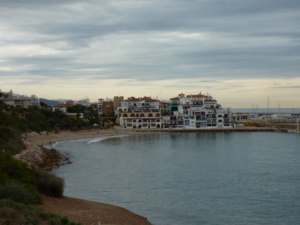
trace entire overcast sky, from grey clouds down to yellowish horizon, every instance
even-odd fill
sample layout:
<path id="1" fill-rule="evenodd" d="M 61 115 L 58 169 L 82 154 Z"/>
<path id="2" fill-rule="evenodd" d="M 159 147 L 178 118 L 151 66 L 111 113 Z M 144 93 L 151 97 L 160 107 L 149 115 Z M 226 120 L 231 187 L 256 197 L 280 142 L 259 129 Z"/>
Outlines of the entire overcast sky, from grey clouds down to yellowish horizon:
<path id="1" fill-rule="evenodd" d="M 1 0 L 0 88 L 300 108 L 299 0 Z"/>

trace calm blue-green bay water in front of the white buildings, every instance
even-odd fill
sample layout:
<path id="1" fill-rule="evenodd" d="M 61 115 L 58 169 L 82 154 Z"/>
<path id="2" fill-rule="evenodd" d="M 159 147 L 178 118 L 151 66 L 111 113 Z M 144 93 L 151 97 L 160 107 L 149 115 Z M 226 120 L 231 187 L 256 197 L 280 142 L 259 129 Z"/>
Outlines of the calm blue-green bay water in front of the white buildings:
<path id="1" fill-rule="evenodd" d="M 64 195 L 155 225 L 300 223 L 299 134 L 138 134 L 55 148 L 73 161 L 54 170 Z"/>

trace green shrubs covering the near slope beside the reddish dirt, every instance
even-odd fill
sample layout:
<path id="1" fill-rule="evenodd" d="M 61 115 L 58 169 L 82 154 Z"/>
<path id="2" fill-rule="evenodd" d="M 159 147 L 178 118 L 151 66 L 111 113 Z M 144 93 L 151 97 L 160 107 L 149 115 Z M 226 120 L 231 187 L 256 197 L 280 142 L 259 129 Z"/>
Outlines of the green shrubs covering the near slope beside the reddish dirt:
<path id="1" fill-rule="evenodd" d="M 42 203 L 41 193 L 62 197 L 64 185 L 55 174 L 30 169 L 10 153 L 1 153 L 0 224 L 81 225 L 35 206 Z"/>

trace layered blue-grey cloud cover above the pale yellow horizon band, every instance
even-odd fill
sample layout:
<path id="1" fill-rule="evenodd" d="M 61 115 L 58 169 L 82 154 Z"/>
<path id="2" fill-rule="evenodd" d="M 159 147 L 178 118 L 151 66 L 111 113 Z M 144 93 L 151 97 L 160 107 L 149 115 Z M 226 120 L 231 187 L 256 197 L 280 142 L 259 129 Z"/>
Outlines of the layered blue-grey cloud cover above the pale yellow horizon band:
<path id="1" fill-rule="evenodd" d="M 0 32 L 9 35 L 0 47 L 12 45 L 16 53 L 0 56 L 0 71 L 32 64 L 1 75 L 111 77 L 128 83 L 296 78 L 299 9 L 298 0 L 4 0 Z M 29 45 L 56 53 L 29 57 L 21 51 Z"/>

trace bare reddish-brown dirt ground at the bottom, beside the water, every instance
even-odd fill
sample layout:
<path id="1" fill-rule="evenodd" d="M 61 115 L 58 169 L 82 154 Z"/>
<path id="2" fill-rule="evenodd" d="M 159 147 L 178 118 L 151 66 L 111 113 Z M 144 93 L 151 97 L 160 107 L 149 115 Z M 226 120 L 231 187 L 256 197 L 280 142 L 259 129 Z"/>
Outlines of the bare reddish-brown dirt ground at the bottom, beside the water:
<path id="1" fill-rule="evenodd" d="M 151 225 L 147 218 L 134 214 L 125 208 L 100 202 L 63 197 L 52 198 L 43 196 L 43 205 L 48 212 L 67 216 L 70 221 L 84 225 Z"/>

